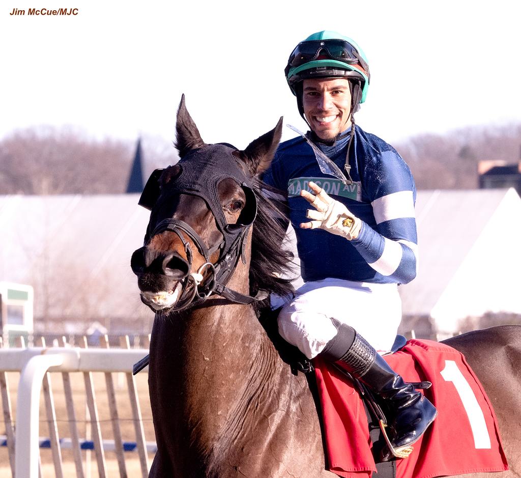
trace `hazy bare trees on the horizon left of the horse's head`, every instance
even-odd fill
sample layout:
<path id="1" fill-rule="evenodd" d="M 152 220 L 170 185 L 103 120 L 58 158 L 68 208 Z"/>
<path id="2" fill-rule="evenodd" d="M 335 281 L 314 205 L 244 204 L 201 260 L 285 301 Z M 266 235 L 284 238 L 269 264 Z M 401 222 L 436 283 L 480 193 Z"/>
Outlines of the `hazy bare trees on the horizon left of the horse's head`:
<path id="1" fill-rule="evenodd" d="M 143 143 L 147 166 L 177 161 L 171 143 Z M 134 151 L 133 141 L 98 141 L 72 128 L 17 131 L 0 142 L 0 194 L 123 193 Z"/>

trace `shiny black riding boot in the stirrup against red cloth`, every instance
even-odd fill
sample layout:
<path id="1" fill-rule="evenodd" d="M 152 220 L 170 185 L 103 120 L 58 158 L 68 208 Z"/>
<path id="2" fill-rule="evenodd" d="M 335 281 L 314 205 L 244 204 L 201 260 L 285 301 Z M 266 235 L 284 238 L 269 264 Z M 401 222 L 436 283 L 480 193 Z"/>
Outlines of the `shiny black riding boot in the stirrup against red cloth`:
<path id="1" fill-rule="evenodd" d="M 403 451 L 403 456 L 407 456 L 406 449 L 424 434 L 436 418 L 438 412 L 435 406 L 412 384 L 404 382 L 352 327 L 339 323 L 337 326 L 339 333 L 322 352 L 324 358 L 338 364 L 383 399 L 391 414 L 391 446 L 399 452 L 398 456 Z M 342 342 L 343 353 L 340 352 Z M 347 351 L 345 347 L 348 347 Z"/>

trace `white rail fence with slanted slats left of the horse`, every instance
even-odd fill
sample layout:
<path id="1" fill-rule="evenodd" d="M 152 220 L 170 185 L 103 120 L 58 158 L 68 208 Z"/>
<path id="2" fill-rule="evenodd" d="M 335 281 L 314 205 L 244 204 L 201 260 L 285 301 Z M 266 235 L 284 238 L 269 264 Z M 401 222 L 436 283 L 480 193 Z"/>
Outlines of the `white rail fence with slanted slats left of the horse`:
<path id="1" fill-rule="evenodd" d="M 105 452 L 115 456 L 111 461 L 117 461 L 117 470 L 122 478 L 140 475 L 146 478 L 150 468 L 148 454 L 156 451 L 156 445 L 154 442 L 145 441 L 141 408 L 146 407 L 147 416 L 150 416 L 150 402 L 146 390 L 141 390 L 141 394 L 138 394 L 132 365 L 142 359 L 148 353 L 148 349 L 131 349 L 128 336 L 122 337 L 121 348 L 109 348 L 107 336 L 101 338 L 102 348 L 87 348 L 86 339 L 83 339 L 83 348 L 68 346 L 65 338 L 60 340 L 61 347 L 45 347 L 43 339 L 39 342 L 40 347 L 25 348 L 22 342 L 21 347 L 7 348 L 2 347 L 0 337 L 0 395 L 5 424 L 5 435 L 0 435 L 0 449 L 2 445 L 7 447 L 11 476 L 45 478 L 46 475 L 42 473 L 40 448 L 50 448 L 54 476 L 57 478 L 63 478 L 65 474 L 71 475 L 64 471 L 62 449 L 71 450 L 70 459 L 74 462 L 76 476 L 79 478 L 91 476 L 92 451 L 95 454 L 97 474 L 101 478 L 108 476 Z M 141 374 L 146 377 L 146 372 L 147 369 L 144 369 Z M 13 373 L 19 374 L 16 421 L 13 420 L 9 389 L 9 379 L 13 381 Z M 61 376 L 61 387 L 55 380 L 57 375 Z M 104 378 L 104 383 L 101 377 Z M 78 383 L 81 382 L 82 388 L 79 389 Z M 100 397 L 96 399 L 95 383 L 106 393 L 103 402 L 106 404 L 104 412 L 108 414 L 108 418 L 105 420 L 100 419 L 98 414 L 101 400 Z M 141 384 L 141 388 L 146 387 L 142 378 Z M 124 388 L 127 389 L 128 395 L 125 394 Z M 63 397 L 60 399 L 59 418 L 53 390 L 58 390 L 59 396 Z M 44 398 L 46 420 L 40 418 L 41 395 Z M 78 406 L 78 403 L 82 406 Z M 120 409 L 123 403 L 127 413 L 131 413 L 131 419 L 120 417 L 118 403 Z M 77 416 L 81 412 L 84 413 L 85 420 L 78 420 Z M 48 425 L 48 438 L 40 437 L 41 421 Z M 121 423 L 125 421 L 133 423 L 135 441 L 123 441 Z M 151 419 L 148 419 L 148 422 L 150 421 Z M 111 425 L 110 429 L 107 428 L 108 422 Z M 68 425 L 70 437 L 60 438 L 58 429 L 60 428 L 61 434 L 64 434 L 65 424 Z M 79 425 L 83 426 L 85 435 L 90 436 L 80 438 L 82 430 Z M 111 439 L 102 438 L 102 428 Z M 128 434 L 130 427 L 126 428 Z M 82 450 L 85 450 L 85 460 Z M 125 455 L 128 453 L 125 452 L 129 451 L 137 452 L 139 465 L 134 465 L 132 471 L 127 473 Z M 111 472 L 110 476 L 114 476 L 114 472 Z"/>

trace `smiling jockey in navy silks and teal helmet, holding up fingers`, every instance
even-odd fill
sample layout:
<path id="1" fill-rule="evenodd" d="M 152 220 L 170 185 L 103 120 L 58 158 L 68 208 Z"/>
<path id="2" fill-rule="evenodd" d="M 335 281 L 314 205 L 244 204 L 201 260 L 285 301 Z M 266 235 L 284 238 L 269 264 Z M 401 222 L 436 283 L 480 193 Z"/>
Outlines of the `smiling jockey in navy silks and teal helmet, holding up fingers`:
<path id="1" fill-rule="evenodd" d="M 392 410 L 391 445 L 403 450 L 437 415 L 380 355 L 401 321 L 398 285 L 416 276 L 414 179 L 392 146 L 355 125 L 370 75 L 353 40 L 314 33 L 295 47 L 284 72 L 311 131 L 307 140 L 281 143 L 263 177 L 288 191 L 280 199 L 295 225 L 305 281 L 280 311 L 279 332 L 308 359 L 320 354 L 374 391 Z M 322 172 L 307 141 L 345 178 Z"/>

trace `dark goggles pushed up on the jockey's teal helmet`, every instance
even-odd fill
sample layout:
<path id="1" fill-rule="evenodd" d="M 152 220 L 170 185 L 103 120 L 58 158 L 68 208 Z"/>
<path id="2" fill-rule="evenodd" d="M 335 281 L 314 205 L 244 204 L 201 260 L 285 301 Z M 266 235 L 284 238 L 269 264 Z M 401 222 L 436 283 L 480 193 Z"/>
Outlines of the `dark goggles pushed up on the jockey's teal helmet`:
<path id="1" fill-rule="evenodd" d="M 295 47 L 288 60 L 288 67 L 296 68 L 312 62 L 324 53 L 329 59 L 349 65 L 359 63 L 360 55 L 356 48 L 345 40 L 312 40 L 301 42 Z"/>

